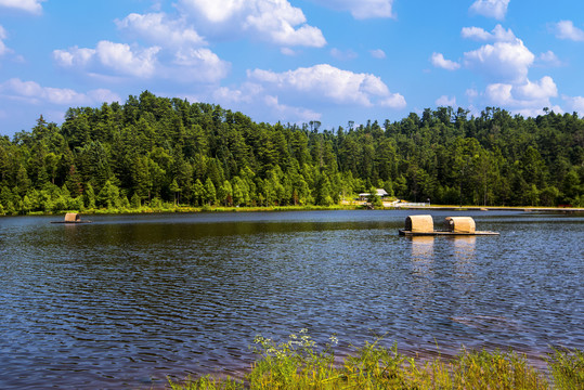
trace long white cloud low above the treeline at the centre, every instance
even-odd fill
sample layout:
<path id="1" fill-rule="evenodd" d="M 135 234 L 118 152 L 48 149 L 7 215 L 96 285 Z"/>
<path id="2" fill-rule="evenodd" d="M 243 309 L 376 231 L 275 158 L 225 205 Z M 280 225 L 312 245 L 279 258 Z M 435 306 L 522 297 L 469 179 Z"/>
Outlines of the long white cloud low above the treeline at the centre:
<path id="1" fill-rule="evenodd" d="M 403 96 L 390 93 L 379 77 L 342 70 L 328 64 L 284 73 L 255 69 L 248 72 L 248 78 L 260 82 L 267 89 L 297 93 L 303 99 L 320 102 L 361 106 L 382 105 L 394 108 L 402 108 L 405 105 Z"/>

